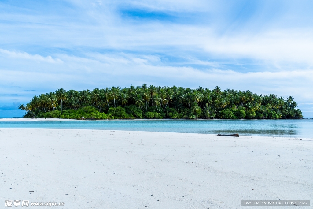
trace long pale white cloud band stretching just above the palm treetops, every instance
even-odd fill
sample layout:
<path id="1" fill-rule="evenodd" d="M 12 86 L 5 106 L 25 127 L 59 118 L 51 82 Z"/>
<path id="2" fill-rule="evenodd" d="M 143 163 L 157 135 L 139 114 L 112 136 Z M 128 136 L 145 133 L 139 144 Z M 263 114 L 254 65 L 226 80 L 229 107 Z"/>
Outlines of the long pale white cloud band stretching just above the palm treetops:
<path id="1" fill-rule="evenodd" d="M 224 89 L 252 90 L 258 94 L 275 93 L 282 96 L 293 94 L 298 98 L 301 95 L 302 99 L 313 98 L 310 91 L 310 87 L 313 87 L 313 71 L 309 70 L 242 73 L 217 68 L 198 70 L 192 67 L 162 65 L 157 56 L 126 53 L 87 54 L 87 56 L 88 58 L 55 55 L 54 60 L 63 60 L 61 64 L 57 62 L 38 64 L 37 60 L 33 62 L 26 60 L 25 65 L 24 57 L 1 59 L 3 65 L 14 63 L 12 67 L 17 69 L 1 69 L 1 74 L 7 78 L 3 82 L 9 81 L 11 86 L 23 84 L 24 88 L 34 89 L 33 86 L 41 84 L 51 88 L 54 86 L 59 88 L 61 84 L 66 88 L 92 88 L 102 85 L 103 82 L 105 86 L 129 86 L 140 85 L 138 81 L 144 81 L 153 82 L 155 85 L 188 85 L 193 88 L 199 85 L 213 88 L 218 85 Z M 36 84 L 29 85 L 28 81 L 34 77 Z M 12 80 L 15 80 L 13 84 Z M 86 85 L 89 81 L 92 83 L 90 86 Z"/>

